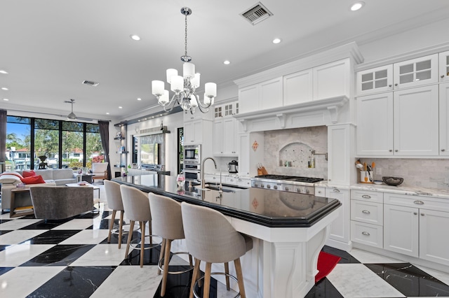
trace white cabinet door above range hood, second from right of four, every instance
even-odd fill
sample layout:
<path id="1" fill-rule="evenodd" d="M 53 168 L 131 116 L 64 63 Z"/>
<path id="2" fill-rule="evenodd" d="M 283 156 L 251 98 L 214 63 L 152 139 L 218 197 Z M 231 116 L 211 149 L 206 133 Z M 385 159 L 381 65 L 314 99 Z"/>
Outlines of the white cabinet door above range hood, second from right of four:
<path id="1" fill-rule="evenodd" d="M 283 76 L 283 105 L 312 100 L 312 69 Z"/>

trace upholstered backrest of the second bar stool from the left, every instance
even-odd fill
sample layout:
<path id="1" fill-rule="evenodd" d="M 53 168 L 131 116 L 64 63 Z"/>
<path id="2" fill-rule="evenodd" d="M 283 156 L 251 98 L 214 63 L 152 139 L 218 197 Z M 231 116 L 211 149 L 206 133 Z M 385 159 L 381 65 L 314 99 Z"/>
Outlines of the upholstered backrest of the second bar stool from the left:
<path id="1" fill-rule="evenodd" d="M 145 192 L 127 185 L 120 185 L 120 192 L 123 201 L 123 210 L 128 220 L 152 220 L 151 211 L 149 210 L 149 199 Z"/>

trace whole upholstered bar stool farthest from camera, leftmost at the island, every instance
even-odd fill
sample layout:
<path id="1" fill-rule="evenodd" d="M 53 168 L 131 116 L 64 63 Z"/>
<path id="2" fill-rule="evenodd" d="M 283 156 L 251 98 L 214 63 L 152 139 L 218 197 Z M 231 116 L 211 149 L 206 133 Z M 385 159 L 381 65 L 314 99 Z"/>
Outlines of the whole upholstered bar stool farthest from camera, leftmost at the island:
<path id="1" fill-rule="evenodd" d="M 121 235 L 123 233 L 123 201 L 121 201 L 120 184 L 114 181 L 105 180 L 105 192 L 106 201 L 109 209 L 112 209 L 111 225 L 109 225 L 109 235 L 107 236 L 107 243 L 111 242 L 111 235 L 114 228 L 114 220 L 117 211 L 120 211 L 120 222 L 119 222 L 119 248 L 121 248 Z M 116 232 L 114 231 L 114 234 Z"/>

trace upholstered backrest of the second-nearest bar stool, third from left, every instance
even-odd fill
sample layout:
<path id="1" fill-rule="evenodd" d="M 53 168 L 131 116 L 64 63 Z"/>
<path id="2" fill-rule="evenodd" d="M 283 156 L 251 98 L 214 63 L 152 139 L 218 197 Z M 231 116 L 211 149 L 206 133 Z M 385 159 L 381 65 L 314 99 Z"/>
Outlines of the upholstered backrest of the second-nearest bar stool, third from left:
<path id="1" fill-rule="evenodd" d="M 163 239 L 184 239 L 181 204 L 169 197 L 149 192 L 149 205 L 152 206 L 152 229 Z"/>

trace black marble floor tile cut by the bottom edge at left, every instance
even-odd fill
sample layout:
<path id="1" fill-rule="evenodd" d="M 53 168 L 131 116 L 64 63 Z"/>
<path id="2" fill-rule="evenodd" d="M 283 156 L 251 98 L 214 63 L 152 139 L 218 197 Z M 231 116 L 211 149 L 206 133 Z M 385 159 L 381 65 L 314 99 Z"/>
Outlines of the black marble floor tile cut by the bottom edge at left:
<path id="1" fill-rule="evenodd" d="M 89 297 L 116 267 L 67 267 L 27 297 Z"/>

